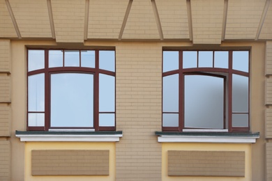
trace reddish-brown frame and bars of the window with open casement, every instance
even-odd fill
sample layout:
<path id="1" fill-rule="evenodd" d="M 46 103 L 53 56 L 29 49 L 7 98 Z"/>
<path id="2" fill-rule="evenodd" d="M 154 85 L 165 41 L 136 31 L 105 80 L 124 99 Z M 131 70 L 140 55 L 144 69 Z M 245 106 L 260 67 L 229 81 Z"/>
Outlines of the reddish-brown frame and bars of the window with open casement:
<path id="1" fill-rule="evenodd" d="M 199 52 L 213 52 L 213 65 L 211 68 L 199 68 Z M 242 50 L 248 52 L 248 72 L 243 72 L 240 70 L 234 70 L 232 68 L 233 61 L 233 52 L 239 50 L 222 50 L 228 52 L 228 68 L 215 68 L 214 62 L 214 52 L 221 50 L 163 50 L 163 52 L 179 52 L 179 68 L 176 70 L 170 70 L 162 73 L 162 78 L 178 74 L 179 76 L 179 111 L 175 112 L 179 114 L 179 126 L 178 127 L 163 127 L 163 113 L 171 113 L 167 111 L 163 111 L 162 104 L 162 130 L 163 132 L 183 132 L 183 129 L 186 129 L 184 126 L 184 76 L 188 74 L 206 74 L 213 77 L 223 77 L 225 81 L 224 85 L 224 128 L 227 128 L 228 132 L 249 132 L 250 131 L 250 50 Z M 183 52 L 197 52 L 197 66 L 195 68 L 184 68 L 183 69 Z M 222 75 L 223 74 L 223 75 Z M 244 77 L 248 77 L 248 127 L 233 127 L 232 126 L 232 75 L 238 74 Z M 163 80 L 162 80 L 163 82 Z M 162 94 L 163 100 L 163 94 Z M 239 113 L 239 112 L 236 112 Z M 242 113 L 242 112 L 241 112 Z M 227 120 L 226 120 L 227 116 Z M 190 128 L 197 129 L 197 128 Z M 201 128 L 205 129 L 205 128 Z"/>

